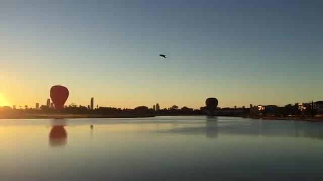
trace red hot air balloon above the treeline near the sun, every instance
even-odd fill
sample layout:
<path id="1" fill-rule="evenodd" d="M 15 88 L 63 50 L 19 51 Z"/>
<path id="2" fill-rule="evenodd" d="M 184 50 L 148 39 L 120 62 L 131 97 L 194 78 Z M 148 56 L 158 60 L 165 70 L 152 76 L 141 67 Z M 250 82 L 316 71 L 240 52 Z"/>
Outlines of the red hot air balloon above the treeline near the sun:
<path id="1" fill-rule="evenodd" d="M 50 98 L 54 103 L 55 109 L 61 110 L 65 101 L 69 97 L 69 90 L 60 85 L 55 85 L 50 89 Z"/>

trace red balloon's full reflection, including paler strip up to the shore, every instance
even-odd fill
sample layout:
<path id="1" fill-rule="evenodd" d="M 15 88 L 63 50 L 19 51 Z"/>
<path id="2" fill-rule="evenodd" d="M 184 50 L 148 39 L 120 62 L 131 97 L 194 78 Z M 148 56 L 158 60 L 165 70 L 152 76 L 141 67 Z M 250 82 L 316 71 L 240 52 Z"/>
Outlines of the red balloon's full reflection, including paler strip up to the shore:
<path id="1" fill-rule="evenodd" d="M 65 146 L 67 144 L 67 132 L 64 129 L 65 119 L 53 119 L 49 133 L 49 145 L 52 147 Z"/>

